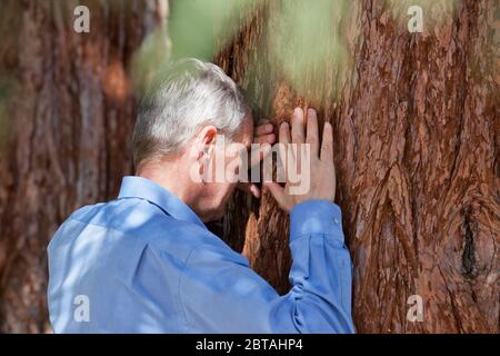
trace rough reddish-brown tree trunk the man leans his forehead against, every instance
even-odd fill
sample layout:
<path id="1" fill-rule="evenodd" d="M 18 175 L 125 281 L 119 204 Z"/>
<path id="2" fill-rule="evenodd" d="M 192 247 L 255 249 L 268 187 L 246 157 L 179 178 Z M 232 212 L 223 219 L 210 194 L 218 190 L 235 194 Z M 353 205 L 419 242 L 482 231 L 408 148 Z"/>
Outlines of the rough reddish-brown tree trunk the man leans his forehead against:
<path id="1" fill-rule="evenodd" d="M 331 17 L 337 32 L 311 21 L 306 38 L 327 49 L 321 61 L 301 67 L 317 52 L 283 26 L 286 0 L 262 2 L 214 61 L 261 117 L 280 122 L 299 103 L 333 123 L 359 332 L 498 333 L 498 2 L 424 2 L 424 32 L 413 34 L 411 2 L 351 1 L 340 16 L 340 1 L 296 9 Z M 289 288 L 287 216 L 269 194 L 239 195 L 219 227 L 236 248 L 246 236 L 253 268 Z M 411 295 L 423 298 L 422 323 L 407 320 Z"/>

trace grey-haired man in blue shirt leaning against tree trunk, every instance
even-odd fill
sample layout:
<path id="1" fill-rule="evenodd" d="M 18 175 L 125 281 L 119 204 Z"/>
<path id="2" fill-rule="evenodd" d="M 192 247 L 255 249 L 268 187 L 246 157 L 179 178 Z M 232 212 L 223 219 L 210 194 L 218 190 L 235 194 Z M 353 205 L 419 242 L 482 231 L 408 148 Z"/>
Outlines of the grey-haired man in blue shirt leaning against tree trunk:
<path id="1" fill-rule="evenodd" d="M 272 130 L 258 127 L 254 141 L 272 144 Z M 291 132 L 280 127 L 281 144 L 310 145 L 314 170 L 303 195 L 291 195 L 290 181 L 266 184 L 290 214 L 292 288 L 284 296 L 203 225 L 221 217 L 237 187 L 233 177 L 204 179 L 211 162 L 228 162 L 217 145 L 222 135 L 247 147 L 253 140 L 237 86 L 211 63 L 172 65 L 139 109 L 136 176 L 124 177 L 118 199 L 73 212 L 49 245 L 56 333 L 354 330 L 351 261 L 333 204 L 331 125 L 321 147 L 313 110 L 306 118 L 296 109 Z M 248 188 L 260 195 L 257 186 Z"/>

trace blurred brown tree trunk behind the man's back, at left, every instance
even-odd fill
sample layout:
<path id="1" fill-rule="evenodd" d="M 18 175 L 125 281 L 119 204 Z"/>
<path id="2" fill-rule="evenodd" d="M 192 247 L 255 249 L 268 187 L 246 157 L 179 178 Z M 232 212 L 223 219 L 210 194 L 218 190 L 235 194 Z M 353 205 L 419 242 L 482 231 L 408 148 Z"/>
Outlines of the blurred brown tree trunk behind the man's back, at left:
<path id="1" fill-rule="evenodd" d="M 78 4 L 90 9 L 90 33 L 73 31 Z M 116 197 L 132 170 L 127 70 L 159 13 L 156 1 L 12 0 L 0 18 L 10 127 L 0 161 L 0 332 L 44 332 L 50 237 L 78 207 Z"/>

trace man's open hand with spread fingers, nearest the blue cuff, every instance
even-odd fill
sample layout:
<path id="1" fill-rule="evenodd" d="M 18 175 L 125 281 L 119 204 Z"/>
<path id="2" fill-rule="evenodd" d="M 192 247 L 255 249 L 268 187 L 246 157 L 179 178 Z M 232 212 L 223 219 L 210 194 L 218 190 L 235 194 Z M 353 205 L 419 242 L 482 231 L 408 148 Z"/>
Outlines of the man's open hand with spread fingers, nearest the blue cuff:
<path id="1" fill-rule="evenodd" d="M 301 172 L 302 176 L 304 174 L 309 175 L 310 179 L 309 191 L 304 195 L 290 195 L 288 177 L 284 188 L 277 182 L 264 182 L 280 207 L 286 211 L 290 211 L 296 205 L 310 199 L 333 201 L 336 197 L 336 167 L 333 165 L 333 130 L 331 123 L 324 123 L 323 141 L 320 149 L 316 110 L 308 110 L 306 136 L 303 111 L 301 108 L 296 108 L 291 119 L 291 136 L 289 125 L 283 122 L 280 127 L 279 141 L 286 146 L 290 144 L 309 144 L 311 157 L 308 168 L 312 170 L 312 172 Z M 287 152 L 289 157 L 284 157 Z M 298 152 L 300 152 L 300 147 Z M 287 167 L 288 165 L 298 165 L 296 167 L 300 167 L 300 161 L 298 161 L 300 158 L 293 157 L 289 149 L 280 150 L 280 157 L 283 162 L 287 162 Z"/>

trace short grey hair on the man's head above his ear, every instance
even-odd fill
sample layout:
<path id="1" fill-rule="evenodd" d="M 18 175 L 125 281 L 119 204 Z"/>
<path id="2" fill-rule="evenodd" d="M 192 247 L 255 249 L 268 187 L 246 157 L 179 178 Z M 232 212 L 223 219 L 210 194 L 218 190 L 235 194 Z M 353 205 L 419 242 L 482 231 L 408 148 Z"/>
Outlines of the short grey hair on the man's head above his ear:
<path id="1" fill-rule="evenodd" d="M 132 137 L 136 166 L 186 147 L 203 126 L 231 139 L 250 112 L 238 86 L 216 65 L 188 58 L 169 65 L 147 90 Z"/>

